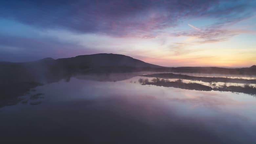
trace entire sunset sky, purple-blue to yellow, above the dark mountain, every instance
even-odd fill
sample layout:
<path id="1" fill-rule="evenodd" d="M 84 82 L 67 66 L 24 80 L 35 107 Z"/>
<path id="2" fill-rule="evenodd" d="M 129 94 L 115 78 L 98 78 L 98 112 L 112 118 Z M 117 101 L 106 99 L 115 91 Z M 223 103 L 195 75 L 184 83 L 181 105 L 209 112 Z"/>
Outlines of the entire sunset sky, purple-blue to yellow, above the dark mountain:
<path id="1" fill-rule="evenodd" d="M 0 1 L 0 61 L 124 54 L 161 66 L 256 64 L 256 0 Z"/>

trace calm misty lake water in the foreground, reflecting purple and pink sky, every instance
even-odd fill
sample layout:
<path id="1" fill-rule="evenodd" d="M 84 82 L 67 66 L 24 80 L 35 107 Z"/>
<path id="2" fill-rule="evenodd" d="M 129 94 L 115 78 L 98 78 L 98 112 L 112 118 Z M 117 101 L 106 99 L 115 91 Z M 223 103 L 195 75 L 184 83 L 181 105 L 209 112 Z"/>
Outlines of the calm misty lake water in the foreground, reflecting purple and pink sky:
<path id="1" fill-rule="evenodd" d="M 115 75 L 113 76 L 115 77 Z M 256 98 L 72 77 L 0 109 L 0 143 L 255 143 Z M 122 79 L 122 78 L 119 78 Z M 30 102 L 42 101 L 38 105 Z M 1 142 L 2 141 L 2 142 Z"/>

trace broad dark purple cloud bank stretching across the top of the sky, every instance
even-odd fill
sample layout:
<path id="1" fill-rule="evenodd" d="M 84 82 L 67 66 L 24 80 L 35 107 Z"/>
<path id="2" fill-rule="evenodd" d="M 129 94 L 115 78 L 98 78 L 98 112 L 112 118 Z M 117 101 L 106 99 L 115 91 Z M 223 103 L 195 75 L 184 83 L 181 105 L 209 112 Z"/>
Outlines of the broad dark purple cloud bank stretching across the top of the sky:
<path id="1" fill-rule="evenodd" d="M 1 2 L 0 18 L 46 29 L 152 38 L 187 18 L 226 24 L 251 16 L 255 8 L 251 0 L 24 0 Z"/>

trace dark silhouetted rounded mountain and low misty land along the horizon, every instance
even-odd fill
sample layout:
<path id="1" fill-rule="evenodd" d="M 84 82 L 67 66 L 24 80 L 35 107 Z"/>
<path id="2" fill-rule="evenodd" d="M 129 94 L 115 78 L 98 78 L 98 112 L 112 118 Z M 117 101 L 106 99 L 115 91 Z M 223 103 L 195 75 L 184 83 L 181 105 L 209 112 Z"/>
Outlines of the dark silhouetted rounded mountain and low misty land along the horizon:
<path id="1" fill-rule="evenodd" d="M 256 66 L 249 68 L 221 68 L 221 67 L 163 67 L 146 63 L 130 56 L 113 53 L 97 53 L 78 55 L 70 58 L 43 58 L 32 62 L 12 63 L 0 62 L 0 78 L 12 77 L 24 79 L 28 75 L 44 77 L 44 75 L 58 75 L 59 73 L 88 73 L 88 72 L 187 72 L 187 73 L 223 73 L 223 74 L 256 74 Z M 43 75 L 43 76 L 42 76 Z M 30 76 L 31 77 L 31 76 Z M 1 80 L 1 79 L 0 79 Z"/>

